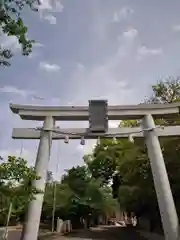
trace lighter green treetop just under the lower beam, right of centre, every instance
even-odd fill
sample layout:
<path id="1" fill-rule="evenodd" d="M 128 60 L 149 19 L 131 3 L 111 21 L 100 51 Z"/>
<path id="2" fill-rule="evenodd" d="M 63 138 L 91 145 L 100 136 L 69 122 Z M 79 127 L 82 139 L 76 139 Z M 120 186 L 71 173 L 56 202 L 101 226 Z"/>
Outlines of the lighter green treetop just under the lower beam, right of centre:
<path id="1" fill-rule="evenodd" d="M 132 143 L 127 140 L 101 139 L 96 144 L 92 154 L 85 156 L 84 160 L 92 176 L 95 179 L 100 179 L 103 184 L 107 184 L 112 181 L 119 161 L 122 158 L 130 157 L 132 151 L 136 150 L 136 148 L 132 148 Z"/>

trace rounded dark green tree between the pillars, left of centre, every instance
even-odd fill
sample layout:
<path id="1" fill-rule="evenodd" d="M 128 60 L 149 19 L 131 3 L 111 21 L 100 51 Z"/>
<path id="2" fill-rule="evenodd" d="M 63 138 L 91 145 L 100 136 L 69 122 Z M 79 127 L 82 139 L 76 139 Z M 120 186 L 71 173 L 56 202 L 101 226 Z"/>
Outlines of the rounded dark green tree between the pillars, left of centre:
<path id="1" fill-rule="evenodd" d="M 63 217 L 71 218 L 74 223 L 80 223 L 82 217 L 87 220 L 89 216 L 95 218 L 99 214 L 110 214 L 117 207 L 111 188 L 93 178 L 87 166 L 68 170 L 63 176 L 62 184 L 69 187 L 71 196 L 61 209 L 61 214 L 66 214 Z"/>

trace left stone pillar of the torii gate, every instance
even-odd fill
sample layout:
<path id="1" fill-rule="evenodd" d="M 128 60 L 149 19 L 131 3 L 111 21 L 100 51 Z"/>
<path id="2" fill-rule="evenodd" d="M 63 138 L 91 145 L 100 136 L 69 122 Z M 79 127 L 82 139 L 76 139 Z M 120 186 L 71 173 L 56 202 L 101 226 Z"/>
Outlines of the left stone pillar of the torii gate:
<path id="1" fill-rule="evenodd" d="M 53 126 L 53 117 L 46 117 L 44 120 L 43 128 L 52 129 Z M 35 196 L 36 199 L 32 200 L 29 203 L 26 222 L 23 227 L 21 240 L 37 240 L 38 238 L 51 144 L 52 132 L 49 130 L 42 131 L 35 164 L 36 173 L 40 177 L 40 179 L 33 181 L 32 185 L 33 187 L 43 192 L 38 193 Z"/>

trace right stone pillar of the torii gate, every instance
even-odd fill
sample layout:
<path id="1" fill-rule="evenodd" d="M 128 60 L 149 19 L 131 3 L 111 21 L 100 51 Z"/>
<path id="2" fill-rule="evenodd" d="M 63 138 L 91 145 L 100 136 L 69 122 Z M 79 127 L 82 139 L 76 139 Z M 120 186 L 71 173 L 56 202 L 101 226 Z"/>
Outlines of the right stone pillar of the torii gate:
<path id="1" fill-rule="evenodd" d="M 144 136 L 148 148 L 148 156 L 151 163 L 165 239 L 177 240 L 179 239 L 179 221 L 153 117 L 151 115 L 145 116 L 142 125 L 144 129 L 152 129 L 145 131 Z"/>

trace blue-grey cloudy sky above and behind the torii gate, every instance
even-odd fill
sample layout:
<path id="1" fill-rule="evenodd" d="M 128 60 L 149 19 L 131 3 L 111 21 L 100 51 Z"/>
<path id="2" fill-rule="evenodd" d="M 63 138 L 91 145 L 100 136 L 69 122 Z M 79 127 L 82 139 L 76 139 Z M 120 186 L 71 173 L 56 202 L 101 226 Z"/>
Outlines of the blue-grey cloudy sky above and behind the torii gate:
<path id="1" fill-rule="evenodd" d="M 13 127 L 41 123 L 22 121 L 9 111 L 9 102 L 87 105 L 89 99 L 102 98 L 109 104 L 135 104 L 158 79 L 179 75 L 179 9 L 178 0 L 42 0 L 39 13 L 25 10 L 29 38 L 36 40 L 32 55 L 21 56 L 15 38 L 0 36 L 0 44 L 15 54 L 12 66 L 0 73 L 0 154 L 18 155 L 22 144 L 32 164 L 38 145 L 11 139 Z M 54 142 L 49 168 L 59 175 L 82 164 L 93 144 L 82 148 L 79 141 L 61 142 L 57 173 Z"/>

